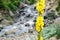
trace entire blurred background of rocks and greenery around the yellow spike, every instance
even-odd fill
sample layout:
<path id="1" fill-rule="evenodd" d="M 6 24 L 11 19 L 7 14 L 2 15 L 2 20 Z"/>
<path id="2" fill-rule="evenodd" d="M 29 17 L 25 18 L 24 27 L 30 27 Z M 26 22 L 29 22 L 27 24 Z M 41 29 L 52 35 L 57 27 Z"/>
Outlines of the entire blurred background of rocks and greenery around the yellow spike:
<path id="1" fill-rule="evenodd" d="M 60 40 L 60 0 L 45 0 L 44 40 Z M 0 0 L 0 40 L 37 40 L 38 0 Z"/>

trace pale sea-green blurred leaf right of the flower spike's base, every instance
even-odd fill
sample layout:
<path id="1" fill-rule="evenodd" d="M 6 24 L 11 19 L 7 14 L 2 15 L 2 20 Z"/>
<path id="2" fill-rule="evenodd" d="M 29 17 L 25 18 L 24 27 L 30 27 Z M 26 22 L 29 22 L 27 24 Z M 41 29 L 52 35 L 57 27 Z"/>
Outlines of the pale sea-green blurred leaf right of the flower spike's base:
<path id="1" fill-rule="evenodd" d="M 45 27 L 41 34 L 43 33 L 44 40 L 56 35 L 56 26 L 54 24 L 50 24 L 47 27 Z"/>

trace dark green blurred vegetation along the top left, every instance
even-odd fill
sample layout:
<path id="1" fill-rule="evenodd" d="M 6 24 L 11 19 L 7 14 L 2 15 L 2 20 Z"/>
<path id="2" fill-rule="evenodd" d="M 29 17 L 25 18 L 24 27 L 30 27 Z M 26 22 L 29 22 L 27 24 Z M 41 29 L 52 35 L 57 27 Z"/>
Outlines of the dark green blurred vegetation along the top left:
<path id="1" fill-rule="evenodd" d="M 15 11 L 19 8 L 20 2 L 24 0 L 0 0 L 0 8 Z M 35 0 L 29 0 L 30 4 L 35 3 Z"/>

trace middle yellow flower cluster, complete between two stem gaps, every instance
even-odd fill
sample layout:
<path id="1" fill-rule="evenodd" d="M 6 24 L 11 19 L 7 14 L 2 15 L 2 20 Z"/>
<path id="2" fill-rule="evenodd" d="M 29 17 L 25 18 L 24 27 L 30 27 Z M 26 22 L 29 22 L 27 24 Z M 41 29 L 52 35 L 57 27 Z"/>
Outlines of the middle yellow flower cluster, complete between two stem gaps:
<path id="1" fill-rule="evenodd" d="M 44 26 L 44 17 L 43 16 L 38 16 L 37 20 L 36 20 L 36 30 L 38 32 L 41 31 L 41 29 L 43 29 Z"/>

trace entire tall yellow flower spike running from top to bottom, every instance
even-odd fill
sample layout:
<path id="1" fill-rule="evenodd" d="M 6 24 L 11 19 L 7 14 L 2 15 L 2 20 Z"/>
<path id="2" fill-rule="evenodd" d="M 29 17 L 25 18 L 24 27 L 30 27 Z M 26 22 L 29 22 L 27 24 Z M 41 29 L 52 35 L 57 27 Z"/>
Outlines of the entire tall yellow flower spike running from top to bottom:
<path id="1" fill-rule="evenodd" d="M 38 11 L 38 18 L 36 20 L 36 31 L 38 32 L 38 40 L 43 40 L 43 37 L 40 35 L 40 32 L 44 28 L 44 8 L 45 0 L 38 0 L 36 4 L 36 9 Z"/>

